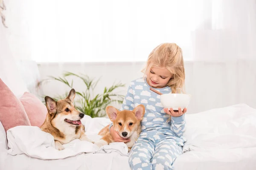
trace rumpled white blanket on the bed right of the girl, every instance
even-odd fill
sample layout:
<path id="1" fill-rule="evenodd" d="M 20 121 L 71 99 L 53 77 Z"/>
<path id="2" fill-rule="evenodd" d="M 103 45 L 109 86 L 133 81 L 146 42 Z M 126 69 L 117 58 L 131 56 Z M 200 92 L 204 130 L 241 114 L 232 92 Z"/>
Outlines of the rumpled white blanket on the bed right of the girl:
<path id="1" fill-rule="evenodd" d="M 256 109 L 233 105 L 186 115 L 183 152 L 256 147 Z"/>

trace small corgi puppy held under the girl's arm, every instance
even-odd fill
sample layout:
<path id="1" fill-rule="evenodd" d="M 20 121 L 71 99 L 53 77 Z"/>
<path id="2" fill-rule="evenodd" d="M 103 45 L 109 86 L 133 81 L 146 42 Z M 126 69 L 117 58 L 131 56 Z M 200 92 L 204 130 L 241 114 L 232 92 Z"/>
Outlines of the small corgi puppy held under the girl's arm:
<path id="1" fill-rule="evenodd" d="M 108 106 L 106 108 L 106 113 L 111 122 L 113 122 L 113 128 L 119 133 L 119 136 L 131 140 L 126 143 L 128 150 L 130 151 L 140 135 L 140 122 L 145 114 L 145 106 L 138 105 L 133 111 L 118 111 L 116 108 Z M 100 130 L 98 134 L 103 136 L 98 142 L 95 142 L 98 147 L 115 142 L 109 132 L 109 125 Z"/>

